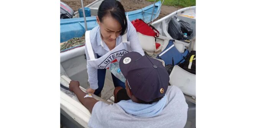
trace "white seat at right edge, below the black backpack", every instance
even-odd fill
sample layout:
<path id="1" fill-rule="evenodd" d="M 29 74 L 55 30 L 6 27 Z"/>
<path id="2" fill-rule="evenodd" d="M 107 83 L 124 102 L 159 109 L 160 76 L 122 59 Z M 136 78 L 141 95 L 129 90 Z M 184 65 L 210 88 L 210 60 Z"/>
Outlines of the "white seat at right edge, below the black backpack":
<path id="1" fill-rule="evenodd" d="M 169 77 L 171 85 L 179 87 L 184 94 L 195 97 L 195 74 L 175 65 Z"/>

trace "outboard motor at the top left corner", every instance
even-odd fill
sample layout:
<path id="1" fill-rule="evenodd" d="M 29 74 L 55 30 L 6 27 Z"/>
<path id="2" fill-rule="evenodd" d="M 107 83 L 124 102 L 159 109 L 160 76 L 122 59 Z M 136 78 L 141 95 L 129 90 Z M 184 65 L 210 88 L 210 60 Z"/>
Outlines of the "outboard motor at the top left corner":
<path id="1" fill-rule="evenodd" d="M 61 2 L 61 19 L 72 18 L 74 10 L 70 8 L 66 3 Z"/>

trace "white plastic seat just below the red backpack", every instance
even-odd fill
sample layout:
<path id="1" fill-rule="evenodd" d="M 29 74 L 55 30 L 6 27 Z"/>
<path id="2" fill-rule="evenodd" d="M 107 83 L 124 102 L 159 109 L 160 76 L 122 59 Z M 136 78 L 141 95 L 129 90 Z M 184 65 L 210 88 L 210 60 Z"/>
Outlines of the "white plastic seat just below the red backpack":
<path id="1" fill-rule="evenodd" d="M 144 51 L 152 53 L 161 50 L 161 44 L 156 43 L 155 38 L 153 36 L 147 36 L 139 32 L 137 32 L 137 34 L 141 47 Z"/>

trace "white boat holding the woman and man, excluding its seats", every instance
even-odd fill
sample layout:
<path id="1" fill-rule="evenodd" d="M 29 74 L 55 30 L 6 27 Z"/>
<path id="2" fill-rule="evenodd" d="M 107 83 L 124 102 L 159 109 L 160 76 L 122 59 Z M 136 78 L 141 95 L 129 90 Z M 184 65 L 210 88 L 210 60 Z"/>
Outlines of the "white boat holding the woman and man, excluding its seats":
<path id="1" fill-rule="evenodd" d="M 156 41 L 161 44 L 163 49 L 166 48 L 167 43 L 169 42 L 170 37 L 160 35 Z M 184 51 L 185 44 L 182 41 L 175 41 L 174 45 L 179 51 Z M 155 47 L 155 46 L 154 46 Z M 158 53 L 153 53 L 150 56 L 155 58 L 155 55 Z M 74 47 L 72 49 L 62 51 L 60 54 L 61 60 L 61 84 L 68 87 L 70 80 L 77 80 L 80 82 L 80 88 L 85 92 L 89 88 L 88 83 L 88 74 L 87 74 L 87 61 L 85 57 L 85 44 L 81 46 Z M 102 90 L 102 97 L 96 97 L 98 100 L 103 100 L 108 104 L 112 104 L 114 101 L 113 98 L 114 85 L 109 70 L 106 72 L 105 85 Z M 188 121 L 185 125 L 185 128 L 194 128 L 195 125 L 195 99 L 191 98 L 188 95 L 185 95 L 187 104 L 189 105 L 188 110 Z M 85 108 L 77 98 L 70 96 L 61 89 L 61 114 L 63 118 L 68 118 L 69 123 L 78 125 L 78 127 L 87 128 L 88 122 L 90 119 L 90 112 Z M 191 119 L 190 119 L 191 118 Z M 190 119 L 190 120 L 189 120 Z M 63 123 L 65 123 L 63 121 Z M 67 122 L 66 122 L 67 123 Z M 63 124 L 62 124 L 63 125 Z"/>

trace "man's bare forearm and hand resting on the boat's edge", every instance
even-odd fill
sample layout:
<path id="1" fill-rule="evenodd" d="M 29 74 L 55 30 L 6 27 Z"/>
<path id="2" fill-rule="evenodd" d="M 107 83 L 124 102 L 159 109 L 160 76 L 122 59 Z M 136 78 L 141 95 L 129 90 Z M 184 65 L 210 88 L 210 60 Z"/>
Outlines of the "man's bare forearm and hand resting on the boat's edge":
<path id="1" fill-rule="evenodd" d="M 82 103 L 82 105 L 84 105 L 84 107 L 86 107 L 89 110 L 89 112 L 92 113 L 92 108 L 94 107 L 95 103 L 98 102 L 98 100 L 95 100 L 91 97 L 84 98 L 86 93 L 80 89 L 78 81 L 71 80 L 69 84 L 69 89 L 75 93 L 75 95 L 77 96 L 78 100 Z"/>

